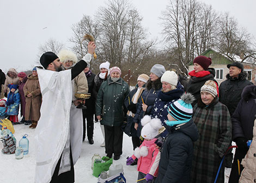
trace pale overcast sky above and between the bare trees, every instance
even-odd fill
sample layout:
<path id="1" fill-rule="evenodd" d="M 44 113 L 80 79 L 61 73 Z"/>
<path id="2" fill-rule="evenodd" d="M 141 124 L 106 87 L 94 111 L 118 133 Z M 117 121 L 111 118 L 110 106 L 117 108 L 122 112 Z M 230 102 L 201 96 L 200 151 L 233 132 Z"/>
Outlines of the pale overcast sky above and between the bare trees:
<path id="1" fill-rule="evenodd" d="M 32 69 L 38 47 L 53 38 L 70 45 L 71 25 L 83 15 L 95 15 L 105 0 L 23 0 L 0 1 L 0 68 L 6 73 L 14 67 L 18 72 Z M 217 12 L 228 11 L 240 26 L 256 37 L 255 0 L 202 0 Z M 151 37 L 161 37 L 159 17 L 169 0 L 131 0 L 143 17 L 143 27 Z"/>

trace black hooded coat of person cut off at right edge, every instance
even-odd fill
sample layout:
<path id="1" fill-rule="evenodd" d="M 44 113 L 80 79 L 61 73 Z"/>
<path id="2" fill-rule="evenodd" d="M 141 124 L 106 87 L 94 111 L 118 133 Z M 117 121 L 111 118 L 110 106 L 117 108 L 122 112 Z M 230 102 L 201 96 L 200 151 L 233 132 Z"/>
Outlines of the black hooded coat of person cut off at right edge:
<path id="1" fill-rule="evenodd" d="M 233 140 L 237 137 L 253 138 L 253 125 L 256 118 L 256 86 L 246 86 L 242 92 L 242 99 L 231 116 Z"/>

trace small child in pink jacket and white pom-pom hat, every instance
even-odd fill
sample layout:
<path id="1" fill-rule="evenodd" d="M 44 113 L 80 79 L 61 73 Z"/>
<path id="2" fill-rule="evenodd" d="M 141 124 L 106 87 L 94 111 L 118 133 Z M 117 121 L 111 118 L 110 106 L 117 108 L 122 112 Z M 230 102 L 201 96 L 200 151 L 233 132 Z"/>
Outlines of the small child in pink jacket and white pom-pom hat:
<path id="1" fill-rule="evenodd" d="M 131 165 L 137 158 L 138 180 L 144 179 L 139 182 L 152 182 L 158 174 L 160 161 L 160 151 L 155 147 L 155 136 L 159 134 L 162 124 L 160 119 L 151 119 L 150 116 L 144 116 L 141 124 L 143 126 L 141 136 L 144 141 L 139 148 L 135 149 L 134 154 L 127 159 L 126 165 Z"/>

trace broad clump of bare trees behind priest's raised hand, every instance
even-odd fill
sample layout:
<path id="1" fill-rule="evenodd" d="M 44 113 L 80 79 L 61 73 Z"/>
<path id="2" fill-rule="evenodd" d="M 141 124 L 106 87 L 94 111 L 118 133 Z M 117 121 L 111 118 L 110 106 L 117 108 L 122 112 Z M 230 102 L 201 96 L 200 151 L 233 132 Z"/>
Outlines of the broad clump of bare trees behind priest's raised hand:
<path id="1" fill-rule="evenodd" d="M 141 23 L 142 17 L 129 1 L 109 0 L 97 10 L 95 17 L 83 16 L 72 26 L 72 49 L 78 58 L 82 58 L 87 49 L 87 43 L 82 41 L 83 35 L 91 34 L 96 41 L 98 60 L 93 65 L 99 61 L 118 66 L 124 62 L 142 61 L 156 40 L 147 40 L 147 30 Z"/>

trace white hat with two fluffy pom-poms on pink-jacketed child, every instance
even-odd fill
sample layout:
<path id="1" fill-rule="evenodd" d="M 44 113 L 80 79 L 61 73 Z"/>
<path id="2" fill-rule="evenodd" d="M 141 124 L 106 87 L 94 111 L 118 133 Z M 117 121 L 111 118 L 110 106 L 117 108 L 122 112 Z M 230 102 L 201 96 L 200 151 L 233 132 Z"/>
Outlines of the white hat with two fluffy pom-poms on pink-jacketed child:
<path id="1" fill-rule="evenodd" d="M 141 136 L 148 140 L 155 138 L 155 136 L 159 134 L 159 129 L 162 128 L 162 123 L 159 118 L 151 119 L 148 115 L 142 118 L 141 124 L 143 125 Z"/>

